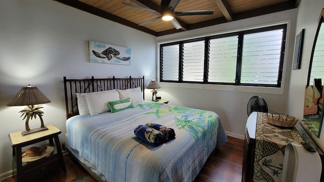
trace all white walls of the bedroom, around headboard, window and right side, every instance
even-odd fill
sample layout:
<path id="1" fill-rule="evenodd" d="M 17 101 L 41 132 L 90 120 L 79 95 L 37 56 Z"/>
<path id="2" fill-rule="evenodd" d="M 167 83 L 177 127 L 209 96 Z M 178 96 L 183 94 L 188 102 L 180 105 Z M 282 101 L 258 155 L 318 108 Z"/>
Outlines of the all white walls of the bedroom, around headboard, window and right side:
<path id="1" fill-rule="evenodd" d="M 211 89 L 181 88 L 162 85 L 158 96 L 172 105 L 207 109 L 218 113 L 225 130 L 234 136 L 244 135 L 247 103 L 260 95 L 273 112 L 302 118 L 304 86 L 312 42 L 322 0 L 301 1 L 298 9 L 216 25 L 213 27 L 158 37 L 159 42 L 184 37 L 222 33 L 288 21 L 285 58 L 285 92 L 283 95 L 231 92 Z M 296 28 L 297 22 L 297 28 Z M 146 85 L 155 78 L 158 60 L 156 37 L 81 12 L 51 0 L 0 1 L 0 177 L 11 170 L 12 148 L 8 134 L 24 130 L 18 113 L 23 107 L 7 103 L 22 86 L 37 86 L 52 101 L 44 105 L 45 124 L 54 124 L 65 134 L 63 76 L 145 76 Z M 296 35 L 305 28 L 304 50 L 300 70 L 292 70 Z M 132 49 L 132 65 L 89 63 L 88 41 L 100 41 Z M 145 92 L 151 99 L 150 90 Z M 39 126 L 39 119 L 30 121 Z M 324 139 L 323 134 L 321 138 Z"/>

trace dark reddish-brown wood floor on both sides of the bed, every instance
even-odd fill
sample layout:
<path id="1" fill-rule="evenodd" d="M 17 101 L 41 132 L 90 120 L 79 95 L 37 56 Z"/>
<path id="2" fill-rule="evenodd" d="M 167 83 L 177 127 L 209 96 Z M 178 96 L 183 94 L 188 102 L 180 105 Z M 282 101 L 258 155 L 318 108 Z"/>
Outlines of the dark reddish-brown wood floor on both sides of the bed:
<path id="1" fill-rule="evenodd" d="M 205 166 L 195 178 L 195 182 L 211 181 L 241 181 L 244 140 L 228 136 L 228 143 L 214 152 L 208 158 Z M 66 172 L 54 171 L 39 182 L 69 182 L 80 175 L 87 175 L 91 181 L 96 180 L 81 167 L 69 154 L 64 155 Z M 13 177 L 6 178 L 2 182 L 14 182 Z"/>

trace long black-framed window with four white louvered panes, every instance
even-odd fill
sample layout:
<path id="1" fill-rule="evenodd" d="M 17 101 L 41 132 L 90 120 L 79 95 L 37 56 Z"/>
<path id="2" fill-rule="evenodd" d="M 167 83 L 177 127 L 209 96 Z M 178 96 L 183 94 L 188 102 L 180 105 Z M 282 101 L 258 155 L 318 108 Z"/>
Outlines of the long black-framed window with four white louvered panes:
<path id="1" fill-rule="evenodd" d="M 160 45 L 160 81 L 280 87 L 287 25 Z"/>

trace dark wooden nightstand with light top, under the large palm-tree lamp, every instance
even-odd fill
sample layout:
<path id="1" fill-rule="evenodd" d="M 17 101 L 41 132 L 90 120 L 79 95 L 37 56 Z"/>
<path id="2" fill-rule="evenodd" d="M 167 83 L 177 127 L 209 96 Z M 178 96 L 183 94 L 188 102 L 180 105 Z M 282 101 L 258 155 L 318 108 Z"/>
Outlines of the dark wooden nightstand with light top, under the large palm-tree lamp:
<path id="1" fill-rule="evenodd" d="M 12 147 L 12 170 L 13 177 L 16 181 L 35 181 L 36 178 L 41 177 L 47 172 L 61 168 L 66 172 L 62 149 L 59 141 L 59 134 L 61 131 L 54 125 L 47 125 L 48 130 L 36 132 L 28 135 L 22 135 L 21 131 L 10 133 L 9 139 Z M 55 141 L 55 144 L 53 142 Z M 32 162 L 22 162 L 22 148 L 34 145 L 39 142 L 49 140 L 46 146 L 54 147 L 54 151 L 46 157 L 37 159 Z M 42 144 L 44 146 L 44 144 Z"/>

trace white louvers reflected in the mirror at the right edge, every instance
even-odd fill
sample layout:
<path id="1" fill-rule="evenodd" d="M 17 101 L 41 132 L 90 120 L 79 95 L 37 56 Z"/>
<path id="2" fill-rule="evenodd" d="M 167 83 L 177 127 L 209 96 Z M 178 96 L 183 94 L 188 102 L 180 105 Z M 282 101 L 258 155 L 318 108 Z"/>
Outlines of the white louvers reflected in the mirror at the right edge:
<path id="1" fill-rule="evenodd" d="M 319 29 L 310 72 L 309 84 L 313 85 L 314 78 L 324 81 L 324 24 Z"/>

